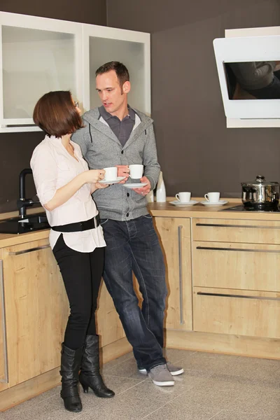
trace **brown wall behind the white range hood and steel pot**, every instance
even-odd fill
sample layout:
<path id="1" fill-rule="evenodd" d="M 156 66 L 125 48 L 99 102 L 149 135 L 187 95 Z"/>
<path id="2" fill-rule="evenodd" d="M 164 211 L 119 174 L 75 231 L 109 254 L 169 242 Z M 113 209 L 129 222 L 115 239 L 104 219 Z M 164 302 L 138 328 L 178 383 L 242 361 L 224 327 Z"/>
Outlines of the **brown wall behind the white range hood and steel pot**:
<path id="1" fill-rule="evenodd" d="M 280 25 L 279 0 L 107 0 L 107 25 L 151 32 L 152 116 L 167 193 L 280 181 L 280 130 L 227 129 L 212 42 L 225 29 Z"/>

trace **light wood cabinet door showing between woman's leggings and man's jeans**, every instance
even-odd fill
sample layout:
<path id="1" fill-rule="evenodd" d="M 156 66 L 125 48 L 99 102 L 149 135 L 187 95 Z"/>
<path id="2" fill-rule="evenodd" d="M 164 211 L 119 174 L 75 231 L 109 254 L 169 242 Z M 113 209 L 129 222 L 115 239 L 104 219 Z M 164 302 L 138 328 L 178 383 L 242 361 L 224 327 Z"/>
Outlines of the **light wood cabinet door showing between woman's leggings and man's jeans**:
<path id="1" fill-rule="evenodd" d="M 102 347 L 125 337 L 123 326 L 104 281 L 99 290 L 97 331 Z"/>

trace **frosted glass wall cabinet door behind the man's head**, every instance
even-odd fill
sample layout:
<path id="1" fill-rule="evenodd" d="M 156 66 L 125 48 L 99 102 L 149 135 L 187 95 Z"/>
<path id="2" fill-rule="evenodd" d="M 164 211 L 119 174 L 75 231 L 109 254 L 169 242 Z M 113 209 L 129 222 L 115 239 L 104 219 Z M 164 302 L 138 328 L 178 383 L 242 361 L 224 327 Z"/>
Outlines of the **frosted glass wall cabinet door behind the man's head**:
<path id="1" fill-rule="evenodd" d="M 113 60 L 123 62 L 130 72 L 132 90 L 128 102 L 151 114 L 150 34 L 109 27 L 83 25 L 85 109 L 100 106 L 95 71 Z"/>

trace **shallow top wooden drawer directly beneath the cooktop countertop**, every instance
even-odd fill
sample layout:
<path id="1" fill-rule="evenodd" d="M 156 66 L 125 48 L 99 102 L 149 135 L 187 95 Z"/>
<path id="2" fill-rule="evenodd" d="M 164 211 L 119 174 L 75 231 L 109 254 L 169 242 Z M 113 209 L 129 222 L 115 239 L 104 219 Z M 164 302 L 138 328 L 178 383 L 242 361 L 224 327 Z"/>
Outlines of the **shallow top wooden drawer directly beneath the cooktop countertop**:
<path id="1" fill-rule="evenodd" d="M 280 222 L 194 218 L 193 240 L 280 244 Z"/>

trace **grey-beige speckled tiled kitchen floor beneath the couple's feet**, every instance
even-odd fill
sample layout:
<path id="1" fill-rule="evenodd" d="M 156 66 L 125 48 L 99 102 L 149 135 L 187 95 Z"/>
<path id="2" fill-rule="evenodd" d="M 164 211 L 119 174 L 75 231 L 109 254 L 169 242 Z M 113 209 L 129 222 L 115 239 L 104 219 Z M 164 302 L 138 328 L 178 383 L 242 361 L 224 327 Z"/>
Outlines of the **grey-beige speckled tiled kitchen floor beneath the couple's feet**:
<path id="1" fill-rule="evenodd" d="M 167 350 L 185 373 L 158 387 L 137 372 L 132 353 L 104 365 L 111 400 L 81 393 L 83 411 L 66 412 L 59 387 L 0 413 L 3 420 L 276 420 L 280 419 L 280 362 Z"/>

